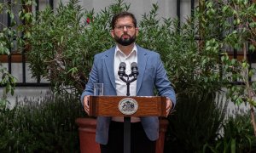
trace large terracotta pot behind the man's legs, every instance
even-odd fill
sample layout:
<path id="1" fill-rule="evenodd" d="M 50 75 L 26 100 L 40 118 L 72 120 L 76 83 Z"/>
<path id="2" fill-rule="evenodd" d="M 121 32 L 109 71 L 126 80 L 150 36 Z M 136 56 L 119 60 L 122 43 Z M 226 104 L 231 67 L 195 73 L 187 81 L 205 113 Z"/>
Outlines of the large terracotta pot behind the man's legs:
<path id="1" fill-rule="evenodd" d="M 96 119 L 78 118 L 76 123 L 79 125 L 79 139 L 81 153 L 100 153 L 100 145 L 96 143 Z M 159 139 L 156 141 L 155 153 L 164 152 L 165 134 L 168 126 L 166 119 L 160 119 Z"/>

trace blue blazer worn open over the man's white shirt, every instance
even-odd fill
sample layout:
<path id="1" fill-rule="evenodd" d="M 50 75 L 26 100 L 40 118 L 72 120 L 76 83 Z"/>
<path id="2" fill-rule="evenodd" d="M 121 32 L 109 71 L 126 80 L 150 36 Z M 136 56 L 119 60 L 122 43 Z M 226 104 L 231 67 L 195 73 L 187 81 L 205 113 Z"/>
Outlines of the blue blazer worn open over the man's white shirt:
<path id="1" fill-rule="evenodd" d="M 104 95 L 116 95 L 115 78 L 113 71 L 115 47 L 106 50 L 94 57 L 89 81 L 81 95 L 81 101 L 85 95 L 93 95 L 93 84 L 104 83 Z M 172 100 L 173 107 L 176 104 L 175 92 L 168 80 L 166 70 L 160 59 L 160 54 L 141 48 L 137 45 L 137 96 L 154 96 L 154 88 L 158 95 Z M 140 117 L 148 139 L 154 141 L 159 137 L 159 119 L 157 116 Z M 108 144 L 108 129 L 111 117 L 98 116 L 96 125 L 96 142 Z"/>

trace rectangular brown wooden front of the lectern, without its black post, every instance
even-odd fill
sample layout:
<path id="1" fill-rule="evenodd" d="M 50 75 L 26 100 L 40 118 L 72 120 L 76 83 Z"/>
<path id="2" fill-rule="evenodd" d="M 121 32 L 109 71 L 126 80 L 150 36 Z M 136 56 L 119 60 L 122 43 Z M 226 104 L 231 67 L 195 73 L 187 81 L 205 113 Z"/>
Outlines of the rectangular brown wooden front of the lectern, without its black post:
<path id="1" fill-rule="evenodd" d="M 119 107 L 125 104 L 120 103 L 126 100 L 129 104 L 130 100 L 132 107 L 132 99 L 137 102 L 137 111 L 123 114 Z M 90 96 L 89 105 L 89 116 L 166 116 L 166 97 L 160 96 Z"/>

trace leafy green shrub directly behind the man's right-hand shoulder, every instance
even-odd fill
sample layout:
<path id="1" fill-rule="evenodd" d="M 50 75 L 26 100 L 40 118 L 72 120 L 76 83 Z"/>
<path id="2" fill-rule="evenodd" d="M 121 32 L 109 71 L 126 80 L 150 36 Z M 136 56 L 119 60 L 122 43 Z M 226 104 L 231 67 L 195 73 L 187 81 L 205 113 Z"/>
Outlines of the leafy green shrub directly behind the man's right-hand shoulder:
<path id="1" fill-rule="evenodd" d="M 188 17 L 179 26 L 178 20 L 159 19 L 158 9 L 158 5 L 153 4 L 149 14 L 143 14 L 138 44 L 160 53 L 177 94 L 196 93 L 203 89 L 218 91 L 222 86 L 218 50 L 199 48 L 196 20 Z"/>

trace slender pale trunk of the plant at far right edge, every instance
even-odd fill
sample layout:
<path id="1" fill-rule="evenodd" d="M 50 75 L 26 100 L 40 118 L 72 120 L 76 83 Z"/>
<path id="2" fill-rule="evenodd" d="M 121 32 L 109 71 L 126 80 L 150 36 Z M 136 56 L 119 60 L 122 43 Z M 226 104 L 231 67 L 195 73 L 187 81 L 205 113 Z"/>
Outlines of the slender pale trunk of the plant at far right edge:
<path id="1" fill-rule="evenodd" d="M 247 49 L 246 49 L 246 43 L 243 43 L 243 59 L 244 61 L 247 61 Z M 245 68 L 244 71 L 244 81 L 246 84 L 246 90 L 247 90 L 247 94 L 248 94 L 248 99 L 251 100 L 253 99 L 253 89 L 250 86 L 249 80 L 248 80 L 248 68 Z M 254 116 L 254 107 L 251 103 L 250 104 L 250 114 L 251 114 L 251 122 L 253 124 L 253 132 L 254 132 L 254 136 L 256 137 L 256 122 L 255 122 L 255 116 Z"/>

